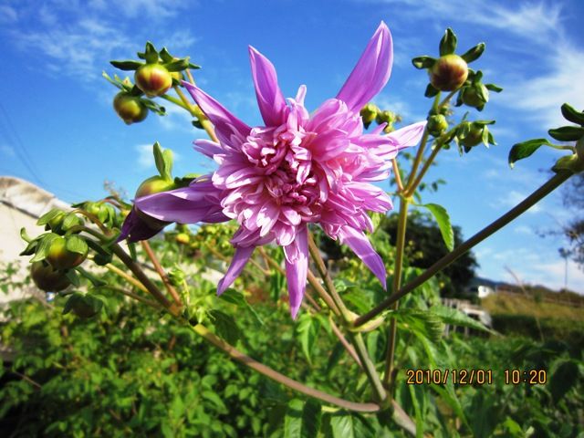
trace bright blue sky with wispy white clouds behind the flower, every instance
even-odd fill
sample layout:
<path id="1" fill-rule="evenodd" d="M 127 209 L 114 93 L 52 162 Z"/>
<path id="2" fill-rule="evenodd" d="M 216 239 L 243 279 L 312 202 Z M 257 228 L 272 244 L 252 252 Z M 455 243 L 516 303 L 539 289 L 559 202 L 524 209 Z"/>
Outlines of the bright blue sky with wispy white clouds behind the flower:
<path id="1" fill-rule="evenodd" d="M 505 90 L 492 95 L 472 119 L 496 119 L 497 146 L 460 157 L 443 151 L 429 180 L 447 184 L 424 195 L 441 203 L 465 237 L 474 235 L 544 183 L 554 151 L 519 162 L 506 155 L 516 141 L 545 136 L 559 126 L 559 106 L 584 108 L 584 2 L 483 2 L 478 0 L 0 2 L 0 174 L 30 180 L 68 202 L 98 199 L 108 180 L 133 193 L 155 173 L 151 144 L 177 155 L 175 174 L 204 172 L 213 165 L 192 150 L 203 137 L 180 110 L 151 114 L 127 127 L 111 109 L 115 89 L 100 75 L 115 69 L 110 59 L 135 56 L 150 39 L 172 54 L 190 55 L 203 66 L 198 84 L 249 124 L 259 113 L 249 72 L 247 45 L 276 65 L 281 88 L 294 96 L 308 86 L 314 110 L 337 94 L 381 20 L 391 28 L 394 65 L 388 86 L 375 100 L 400 112 L 404 123 L 422 120 L 430 101 L 427 77 L 410 59 L 436 55 L 443 31 L 452 26 L 461 51 L 485 41 L 474 63 L 485 82 Z M 168 106 L 167 106 L 168 108 Z M 561 242 L 541 231 L 565 224 L 570 214 L 559 193 L 478 245 L 479 275 L 562 287 Z M 584 274 L 568 266 L 568 287 L 584 293 Z"/>

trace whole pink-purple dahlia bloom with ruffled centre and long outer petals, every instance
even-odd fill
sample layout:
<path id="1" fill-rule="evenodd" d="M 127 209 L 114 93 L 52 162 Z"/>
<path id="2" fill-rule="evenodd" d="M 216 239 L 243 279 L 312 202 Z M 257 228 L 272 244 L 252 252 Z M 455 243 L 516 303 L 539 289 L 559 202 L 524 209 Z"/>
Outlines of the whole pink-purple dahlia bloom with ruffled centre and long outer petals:
<path id="1" fill-rule="evenodd" d="M 218 142 L 195 141 L 195 149 L 219 164 L 189 187 L 136 200 L 161 221 L 192 224 L 235 219 L 235 256 L 217 293 L 229 287 L 258 245 L 284 249 L 290 309 L 298 308 L 307 283 L 308 224 L 349 245 L 385 287 L 385 266 L 365 236 L 368 212 L 385 213 L 391 199 L 373 182 L 390 174 L 391 159 L 417 144 L 425 121 L 381 135 L 363 133 L 360 108 L 387 83 L 391 34 L 381 23 L 334 99 L 312 114 L 304 107 L 306 87 L 284 99 L 272 63 L 249 48 L 255 95 L 265 126 L 247 126 L 202 89 L 183 82 L 214 124 Z"/>

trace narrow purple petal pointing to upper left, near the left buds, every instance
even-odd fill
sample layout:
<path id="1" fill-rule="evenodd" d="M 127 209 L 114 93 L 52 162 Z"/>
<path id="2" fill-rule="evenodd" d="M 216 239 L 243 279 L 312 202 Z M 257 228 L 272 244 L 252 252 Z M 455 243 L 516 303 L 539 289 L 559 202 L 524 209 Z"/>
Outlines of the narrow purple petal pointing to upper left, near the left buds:
<path id="1" fill-rule="evenodd" d="M 191 93 L 197 105 L 201 107 L 204 115 L 214 124 L 215 132 L 224 147 L 234 146 L 232 137 L 235 135 L 237 143 L 241 143 L 249 134 L 251 128 L 243 121 L 237 119 L 226 110 L 217 100 L 213 99 L 202 89 L 183 81 L 183 86 Z"/>

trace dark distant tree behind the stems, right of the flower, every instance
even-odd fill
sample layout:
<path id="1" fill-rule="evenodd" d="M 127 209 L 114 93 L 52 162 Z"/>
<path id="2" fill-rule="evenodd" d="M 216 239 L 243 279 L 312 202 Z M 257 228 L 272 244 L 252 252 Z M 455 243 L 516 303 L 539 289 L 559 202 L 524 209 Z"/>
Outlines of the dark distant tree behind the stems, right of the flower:
<path id="1" fill-rule="evenodd" d="M 395 245 L 397 225 L 398 214 L 391 214 L 381 224 L 383 230 L 390 235 L 391 245 Z M 406 239 L 406 255 L 410 266 L 428 268 L 448 253 L 438 225 L 426 214 L 414 212 L 408 217 Z M 454 226 L 454 245 L 460 245 L 463 241 L 461 228 Z M 464 288 L 474 278 L 476 267 L 478 263 L 472 252 L 462 255 L 452 265 L 446 267 L 439 277 L 441 295 L 443 297 L 463 296 Z"/>

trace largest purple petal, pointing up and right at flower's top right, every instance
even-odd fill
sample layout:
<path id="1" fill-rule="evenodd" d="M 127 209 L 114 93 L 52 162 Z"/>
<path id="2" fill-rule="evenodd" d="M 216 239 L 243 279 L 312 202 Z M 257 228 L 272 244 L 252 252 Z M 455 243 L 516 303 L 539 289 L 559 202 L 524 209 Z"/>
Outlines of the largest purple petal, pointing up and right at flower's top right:
<path id="1" fill-rule="evenodd" d="M 393 43 L 390 29 L 381 22 L 361 55 L 337 99 L 343 100 L 349 110 L 357 110 L 381 91 L 391 73 Z"/>

